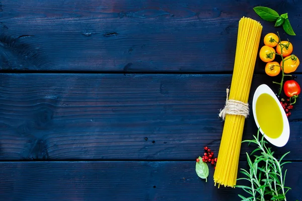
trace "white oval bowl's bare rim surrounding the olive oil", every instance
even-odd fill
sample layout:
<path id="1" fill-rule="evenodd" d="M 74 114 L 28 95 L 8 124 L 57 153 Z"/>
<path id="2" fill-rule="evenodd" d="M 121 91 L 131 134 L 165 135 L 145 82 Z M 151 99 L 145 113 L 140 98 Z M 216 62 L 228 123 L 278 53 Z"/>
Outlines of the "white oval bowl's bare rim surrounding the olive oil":
<path id="1" fill-rule="evenodd" d="M 268 137 L 265 133 L 263 133 L 263 131 L 260 128 L 260 132 L 262 134 L 264 134 L 264 137 L 267 141 L 269 141 L 271 144 L 277 146 L 277 147 L 283 147 L 289 139 L 289 123 L 288 123 L 288 119 L 286 117 L 285 111 L 283 110 L 280 101 L 278 100 L 277 96 L 275 95 L 275 93 L 273 92 L 273 90 L 266 84 L 261 84 L 260 86 L 258 86 L 258 88 L 256 89 L 255 93 L 254 93 L 254 97 L 253 97 L 253 115 L 254 115 L 254 119 L 256 122 L 256 125 L 259 129 L 259 123 L 257 120 L 257 116 L 256 116 L 256 102 L 258 97 L 263 94 L 263 93 L 267 93 L 270 96 L 272 96 L 274 98 L 274 100 L 276 101 L 280 111 L 281 111 L 281 115 L 282 115 L 282 119 L 283 119 L 283 131 L 281 133 L 281 135 L 278 138 L 270 138 Z M 267 124 L 270 124 L 270 120 L 267 120 Z"/>

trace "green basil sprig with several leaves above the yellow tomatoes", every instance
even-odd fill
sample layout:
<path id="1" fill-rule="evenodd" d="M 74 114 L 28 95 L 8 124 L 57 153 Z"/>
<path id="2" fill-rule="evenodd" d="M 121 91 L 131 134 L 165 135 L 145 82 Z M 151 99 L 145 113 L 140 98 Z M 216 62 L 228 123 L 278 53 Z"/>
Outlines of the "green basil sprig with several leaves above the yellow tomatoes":
<path id="1" fill-rule="evenodd" d="M 267 7 L 255 7 L 254 11 L 263 19 L 269 22 L 275 22 L 275 27 L 279 27 L 282 25 L 284 31 L 291 36 L 295 36 L 295 33 L 289 23 L 288 15 L 287 13 L 282 14 L 279 16 L 279 14 Z"/>

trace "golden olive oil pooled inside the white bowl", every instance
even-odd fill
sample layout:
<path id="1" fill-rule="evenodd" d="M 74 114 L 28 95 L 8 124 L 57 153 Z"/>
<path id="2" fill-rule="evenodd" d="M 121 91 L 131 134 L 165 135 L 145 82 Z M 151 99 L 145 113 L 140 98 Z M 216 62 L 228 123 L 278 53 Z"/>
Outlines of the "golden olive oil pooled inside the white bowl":
<path id="1" fill-rule="evenodd" d="M 270 138 L 278 138 L 283 131 L 283 119 L 276 100 L 268 93 L 256 101 L 256 117 L 261 130 Z"/>

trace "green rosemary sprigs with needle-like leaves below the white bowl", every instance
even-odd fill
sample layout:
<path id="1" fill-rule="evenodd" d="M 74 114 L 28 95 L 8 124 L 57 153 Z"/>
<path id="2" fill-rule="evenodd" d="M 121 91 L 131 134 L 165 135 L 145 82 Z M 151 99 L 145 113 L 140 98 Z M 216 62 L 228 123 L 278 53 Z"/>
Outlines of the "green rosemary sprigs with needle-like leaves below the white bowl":
<path id="1" fill-rule="evenodd" d="M 244 197 L 243 195 L 238 195 L 242 200 L 245 201 L 256 201 L 256 200 L 276 200 L 286 201 L 285 194 L 291 188 L 285 186 L 285 176 L 282 173 L 282 168 L 285 163 L 283 158 L 289 153 L 285 153 L 279 160 L 277 160 L 271 151 L 271 148 L 266 147 L 267 142 L 264 140 L 264 136 L 259 140 L 259 131 L 257 136 L 254 136 L 253 140 L 245 140 L 243 142 L 254 143 L 257 145 L 257 148 L 251 153 L 254 154 L 254 161 L 251 160 L 251 157 L 247 154 L 247 161 L 249 165 L 249 170 L 241 169 L 241 173 L 246 175 L 246 177 L 238 178 L 237 180 L 248 180 L 250 186 L 245 185 L 236 185 L 236 187 L 242 188 L 244 191 L 248 192 L 251 196 Z M 255 153 L 260 153 L 259 156 Z"/>

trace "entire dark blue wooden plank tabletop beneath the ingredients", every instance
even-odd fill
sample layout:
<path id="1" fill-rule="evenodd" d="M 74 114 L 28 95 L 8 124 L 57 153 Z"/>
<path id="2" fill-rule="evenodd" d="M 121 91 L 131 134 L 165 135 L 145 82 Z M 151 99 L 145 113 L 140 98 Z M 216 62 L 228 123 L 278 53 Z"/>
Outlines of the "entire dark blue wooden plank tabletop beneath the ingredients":
<path id="1" fill-rule="evenodd" d="M 297 36 L 255 6 L 288 12 Z M 238 22 L 302 57 L 301 12 L 297 0 L 0 0 L 0 200 L 240 200 L 213 168 L 208 182 L 195 173 L 204 146 L 218 153 Z M 251 94 L 271 81 L 258 59 Z M 288 200 L 302 199 L 301 107 L 275 149 L 291 151 Z M 256 132 L 250 116 L 243 138 Z"/>

